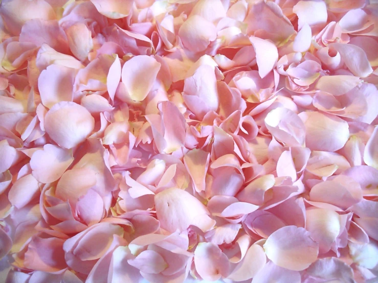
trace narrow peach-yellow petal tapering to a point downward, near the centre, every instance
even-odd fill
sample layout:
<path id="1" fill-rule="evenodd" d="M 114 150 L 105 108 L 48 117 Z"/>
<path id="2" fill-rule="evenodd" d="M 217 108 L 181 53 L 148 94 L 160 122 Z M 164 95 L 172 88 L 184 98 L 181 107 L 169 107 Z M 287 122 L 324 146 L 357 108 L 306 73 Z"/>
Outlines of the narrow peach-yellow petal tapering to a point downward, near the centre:
<path id="1" fill-rule="evenodd" d="M 193 149 L 184 156 L 184 164 L 192 178 L 194 189 L 205 191 L 205 177 L 209 167 L 210 155 L 201 149 Z"/>

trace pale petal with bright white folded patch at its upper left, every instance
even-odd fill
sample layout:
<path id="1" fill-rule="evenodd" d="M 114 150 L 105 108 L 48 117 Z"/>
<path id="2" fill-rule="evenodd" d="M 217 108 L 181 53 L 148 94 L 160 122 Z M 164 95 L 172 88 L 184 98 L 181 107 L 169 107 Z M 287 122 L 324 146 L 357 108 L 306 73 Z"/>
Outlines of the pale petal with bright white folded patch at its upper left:
<path id="1" fill-rule="evenodd" d="M 270 133 L 286 146 L 302 146 L 305 140 L 305 125 L 295 112 L 279 107 L 265 117 L 265 126 Z"/>

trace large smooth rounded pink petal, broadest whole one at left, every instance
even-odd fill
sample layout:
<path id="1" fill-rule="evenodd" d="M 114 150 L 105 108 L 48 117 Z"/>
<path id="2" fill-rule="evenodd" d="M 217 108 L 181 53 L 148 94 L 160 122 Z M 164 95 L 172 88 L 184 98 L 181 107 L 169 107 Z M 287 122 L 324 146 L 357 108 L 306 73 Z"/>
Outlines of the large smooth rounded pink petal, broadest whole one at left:
<path id="1" fill-rule="evenodd" d="M 82 143 L 95 127 L 95 120 L 83 106 L 59 102 L 45 116 L 45 129 L 61 147 L 71 149 Z"/>

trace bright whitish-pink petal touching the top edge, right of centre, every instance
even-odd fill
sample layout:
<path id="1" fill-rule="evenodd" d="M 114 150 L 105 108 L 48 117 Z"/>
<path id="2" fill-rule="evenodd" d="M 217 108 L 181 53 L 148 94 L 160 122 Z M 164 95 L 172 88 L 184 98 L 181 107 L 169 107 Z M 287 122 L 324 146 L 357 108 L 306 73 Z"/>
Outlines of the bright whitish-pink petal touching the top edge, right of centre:
<path id="1" fill-rule="evenodd" d="M 327 22 L 327 7 L 323 1 L 299 1 L 293 7 L 298 16 L 298 29 L 305 24 L 312 28 L 322 28 Z"/>

